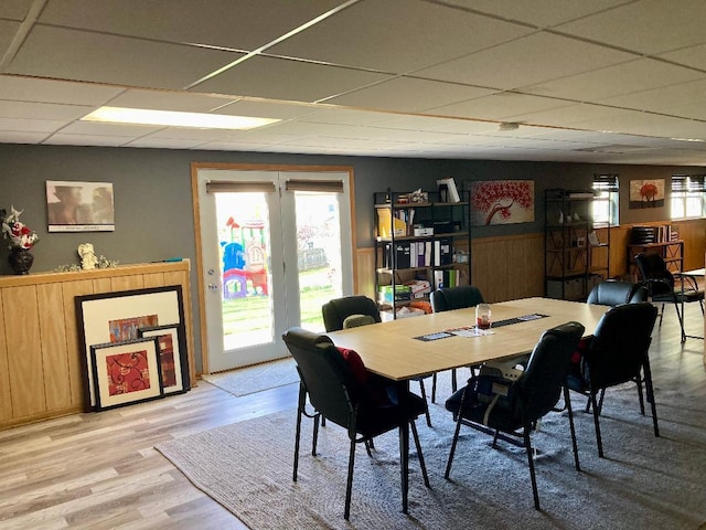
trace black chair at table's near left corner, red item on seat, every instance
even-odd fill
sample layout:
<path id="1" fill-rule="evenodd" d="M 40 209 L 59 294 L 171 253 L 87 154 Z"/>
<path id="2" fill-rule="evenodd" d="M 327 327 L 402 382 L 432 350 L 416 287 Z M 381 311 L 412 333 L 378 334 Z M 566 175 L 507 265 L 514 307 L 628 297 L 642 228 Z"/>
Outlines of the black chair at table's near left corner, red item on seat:
<path id="1" fill-rule="evenodd" d="M 297 407 L 297 432 L 295 438 L 295 464 L 292 479 L 297 480 L 299 466 L 299 439 L 301 435 L 301 416 L 313 418 L 312 456 L 317 456 L 317 438 L 319 420 L 344 427 L 351 439 L 349 454 L 347 483 L 345 488 L 344 518 L 351 513 L 351 490 L 353 486 L 353 467 L 355 462 L 355 444 L 365 443 L 370 454 L 368 443 L 374 436 L 398 428 L 400 433 L 400 460 L 403 466 L 403 511 L 405 506 L 408 479 L 407 456 L 402 454 L 403 425 L 409 424 L 414 436 L 419 465 L 424 481 L 429 487 L 429 478 L 419 445 L 419 436 L 415 420 L 426 410 L 426 402 L 410 392 L 405 395 L 394 393 L 381 399 L 379 388 L 367 385 L 367 381 L 344 360 L 341 351 L 327 336 L 320 336 L 301 328 L 291 328 L 284 335 L 285 343 L 297 361 L 299 372 L 299 403 Z M 359 358 L 360 359 L 360 358 Z M 399 389 L 397 389 L 399 392 Z M 308 413 L 307 395 L 314 409 Z"/>

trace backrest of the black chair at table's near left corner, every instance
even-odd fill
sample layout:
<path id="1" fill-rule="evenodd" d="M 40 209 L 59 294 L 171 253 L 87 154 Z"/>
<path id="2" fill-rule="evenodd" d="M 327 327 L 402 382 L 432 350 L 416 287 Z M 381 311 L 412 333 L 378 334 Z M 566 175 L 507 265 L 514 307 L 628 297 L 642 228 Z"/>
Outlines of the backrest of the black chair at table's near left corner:
<path id="1" fill-rule="evenodd" d="M 298 327 L 287 330 L 282 339 L 297 361 L 311 405 L 347 428 L 360 388 L 341 352 L 325 335 Z"/>

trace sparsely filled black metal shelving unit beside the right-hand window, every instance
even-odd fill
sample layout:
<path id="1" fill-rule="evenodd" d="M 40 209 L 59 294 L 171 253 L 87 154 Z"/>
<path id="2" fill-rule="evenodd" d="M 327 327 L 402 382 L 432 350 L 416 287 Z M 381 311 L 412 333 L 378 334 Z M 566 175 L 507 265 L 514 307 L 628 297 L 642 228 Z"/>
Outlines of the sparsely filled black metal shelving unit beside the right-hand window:
<path id="1" fill-rule="evenodd" d="M 580 300 L 608 278 L 610 226 L 592 221 L 592 191 L 545 191 L 545 294 Z M 606 230 L 603 230 L 606 229 Z"/>

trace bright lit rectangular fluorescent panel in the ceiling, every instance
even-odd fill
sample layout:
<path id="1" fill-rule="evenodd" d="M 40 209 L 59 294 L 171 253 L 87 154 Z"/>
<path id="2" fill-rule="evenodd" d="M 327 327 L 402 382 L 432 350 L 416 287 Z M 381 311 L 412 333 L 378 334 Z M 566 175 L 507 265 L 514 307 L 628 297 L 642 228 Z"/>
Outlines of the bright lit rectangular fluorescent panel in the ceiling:
<path id="1" fill-rule="evenodd" d="M 274 124 L 279 119 L 227 116 L 225 114 L 178 113 L 174 110 L 149 110 L 146 108 L 100 107 L 81 118 L 85 121 L 107 124 L 160 125 L 169 127 L 194 127 L 200 129 L 254 129 Z"/>

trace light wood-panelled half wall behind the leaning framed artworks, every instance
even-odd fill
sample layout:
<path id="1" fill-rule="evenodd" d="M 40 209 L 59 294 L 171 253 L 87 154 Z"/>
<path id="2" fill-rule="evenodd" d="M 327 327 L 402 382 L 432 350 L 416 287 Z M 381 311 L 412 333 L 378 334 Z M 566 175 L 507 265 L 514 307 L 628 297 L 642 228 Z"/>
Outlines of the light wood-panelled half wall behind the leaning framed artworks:
<path id="1" fill-rule="evenodd" d="M 190 263 L 0 277 L 0 428 L 86 410 L 74 298 L 180 285 L 195 381 Z"/>

